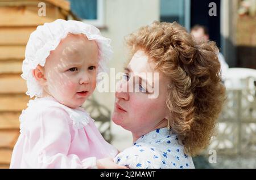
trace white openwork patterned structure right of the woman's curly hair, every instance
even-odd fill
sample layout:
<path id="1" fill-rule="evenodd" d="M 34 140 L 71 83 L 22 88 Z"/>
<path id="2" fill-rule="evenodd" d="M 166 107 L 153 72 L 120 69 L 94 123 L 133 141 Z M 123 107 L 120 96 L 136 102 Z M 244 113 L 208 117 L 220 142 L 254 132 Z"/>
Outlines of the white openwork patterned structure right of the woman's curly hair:
<path id="1" fill-rule="evenodd" d="M 255 81 L 256 70 L 254 69 L 228 68 L 226 71 L 224 84 L 228 98 L 222 117 L 224 119 L 222 119 L 218 127 L 219 134 L 223 138 L 222 144 L 220 143 L 221 137 L 220 140 L 217 141 L 220 144 L 220 148 L 234 148 L 237 146 L 238 152 L 241 153 L 241 149 L 244 149 L 245 144 L 256 145 Z M 225 118 L 228 118 L 231 121 L 225 121 Z M 237 129 L 233 128 L 236 126 Z M 250 130 L 250 132 L 248 130 Z M 228 135 L 232 135 L 232 131 L 234 131 L 234 137 L 225 139 Z M 238 139 L 234 140 L 236 138 Z"/>

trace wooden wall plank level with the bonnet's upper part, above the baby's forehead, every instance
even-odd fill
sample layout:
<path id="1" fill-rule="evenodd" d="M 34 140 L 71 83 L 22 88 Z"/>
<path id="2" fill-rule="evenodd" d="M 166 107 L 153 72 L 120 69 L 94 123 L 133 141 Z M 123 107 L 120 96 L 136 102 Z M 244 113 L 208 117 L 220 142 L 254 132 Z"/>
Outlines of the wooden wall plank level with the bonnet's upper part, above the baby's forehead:
<path id="1" fill-rule="evenodd" d="M 36 27 L 0 27 L 0 45 L 26 45 Z"/>

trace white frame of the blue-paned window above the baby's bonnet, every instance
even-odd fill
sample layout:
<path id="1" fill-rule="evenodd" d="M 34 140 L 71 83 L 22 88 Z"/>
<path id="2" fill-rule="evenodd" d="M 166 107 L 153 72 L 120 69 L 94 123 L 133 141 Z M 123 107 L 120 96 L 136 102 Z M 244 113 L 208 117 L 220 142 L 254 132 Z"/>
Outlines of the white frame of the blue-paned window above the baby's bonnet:
<path id="1" fill-rule="evenodd" d="M 105 27 L 105 0 L 96 0 L 97 1 L 97 19 L 82 19 L 82 22 L 92 24 L 97 28 Z M 68 19 L 72 19 L 71 16 Z"/>

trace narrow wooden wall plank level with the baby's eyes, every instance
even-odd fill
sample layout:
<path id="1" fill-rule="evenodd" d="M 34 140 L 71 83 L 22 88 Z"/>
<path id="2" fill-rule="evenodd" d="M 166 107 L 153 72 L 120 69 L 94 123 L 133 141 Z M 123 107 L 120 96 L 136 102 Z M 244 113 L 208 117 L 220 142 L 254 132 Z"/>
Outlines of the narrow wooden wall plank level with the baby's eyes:
<path id="1" fill-rule="evenodd" d="M 22 61 L 0 61 L 0 74 L 22 74 Z"/>

